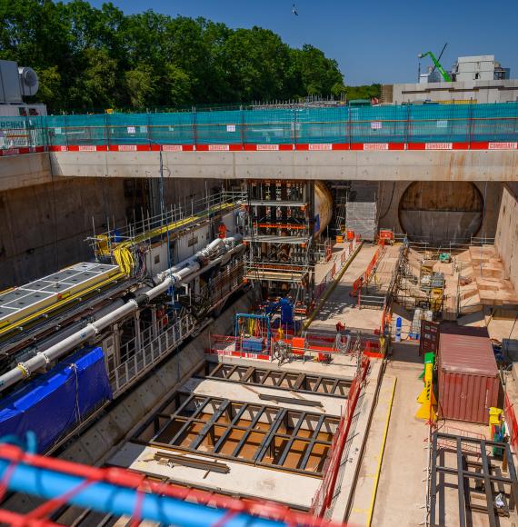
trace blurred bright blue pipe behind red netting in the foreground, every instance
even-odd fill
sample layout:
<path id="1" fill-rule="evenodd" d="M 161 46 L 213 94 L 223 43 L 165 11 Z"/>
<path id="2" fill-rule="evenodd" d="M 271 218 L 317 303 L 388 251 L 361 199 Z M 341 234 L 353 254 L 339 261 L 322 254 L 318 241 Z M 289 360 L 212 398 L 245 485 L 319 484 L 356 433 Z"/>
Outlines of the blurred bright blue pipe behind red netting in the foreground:
<path id="1" fill-rule="evenodd" d="M 0 459 L 0 481 L 10 462 Z M 59 497 L 85 482 L 85 478 L 63 472 L 20 463 L 9 481 L 9 490 L 27 492 L 43 499 Z M 134 515 L 140 492 L 107 482 L 93 482 L 68 500 L 68 503 L 115 516 Z M 184 527 L 206 527 L 224 519 L 226 510 L 214 509 L 198 503 L 183 502 L 167 496 L 144 492 L 140 505 L 140 519 Z M 278 527 L 284 522 L 257 518 L 238 512 L 222 522 L 224 527 Z"/>

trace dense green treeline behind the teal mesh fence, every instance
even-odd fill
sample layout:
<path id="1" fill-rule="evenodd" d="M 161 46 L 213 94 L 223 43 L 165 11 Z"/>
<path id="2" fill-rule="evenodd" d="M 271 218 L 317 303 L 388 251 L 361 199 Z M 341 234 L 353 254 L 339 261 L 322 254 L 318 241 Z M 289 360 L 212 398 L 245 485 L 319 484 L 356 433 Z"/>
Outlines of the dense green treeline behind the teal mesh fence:
<path id="1" fill-rule="evenodd" d="M 272 31 L 82 0 L 0 1 L 0 58 L 35 68 L 50 112 L 236 104 L 344 92 L 338 65 Z"/>

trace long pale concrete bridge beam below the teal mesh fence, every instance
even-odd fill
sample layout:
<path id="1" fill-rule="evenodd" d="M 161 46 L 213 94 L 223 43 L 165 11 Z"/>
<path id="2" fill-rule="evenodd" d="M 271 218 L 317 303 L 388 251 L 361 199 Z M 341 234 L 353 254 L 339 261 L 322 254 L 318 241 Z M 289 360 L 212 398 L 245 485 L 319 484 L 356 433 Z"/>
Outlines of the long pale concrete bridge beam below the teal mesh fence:
<path id="1" fill-rule="evenodd" d="M 513 150 L 164 151 L 164 177 L 372 181 L 518 178 Z M 0 191 L 64 177 L 159 177 L 159 152 L 44 152 L 0 157 Z"/>

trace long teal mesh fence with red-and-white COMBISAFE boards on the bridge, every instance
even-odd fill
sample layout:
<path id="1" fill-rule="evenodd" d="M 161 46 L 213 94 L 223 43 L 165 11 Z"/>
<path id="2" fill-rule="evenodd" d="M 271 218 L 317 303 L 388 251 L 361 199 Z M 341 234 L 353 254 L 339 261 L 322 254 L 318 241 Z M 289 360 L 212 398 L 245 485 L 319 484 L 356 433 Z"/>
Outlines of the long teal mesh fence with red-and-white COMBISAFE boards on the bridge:
<path id="1" fill-rule="evenodd" d="M 518 148 L 518 103 L 5 117 L 0 152 Z"/>

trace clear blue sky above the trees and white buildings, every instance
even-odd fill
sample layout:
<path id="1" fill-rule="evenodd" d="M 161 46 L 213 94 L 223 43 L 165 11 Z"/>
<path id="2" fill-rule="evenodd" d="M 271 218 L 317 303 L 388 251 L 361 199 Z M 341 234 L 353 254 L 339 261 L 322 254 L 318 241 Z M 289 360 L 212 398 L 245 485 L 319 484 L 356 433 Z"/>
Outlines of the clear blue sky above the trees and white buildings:
<path id="1" fill-rule="evenodd" d="M 292 15 L 293 0 L 112 1 L 126 14 L 151 8 L 234 28 L 272 29 L 289 45 L 321 48 L 338 62 L 348 85 L 414 82 L 417 54 L 438 54 L 446 42 L 446 69 L 457 56 L 495 55 L 518 77 L 517 0 L 294 0 L 298 16 Z"/>

